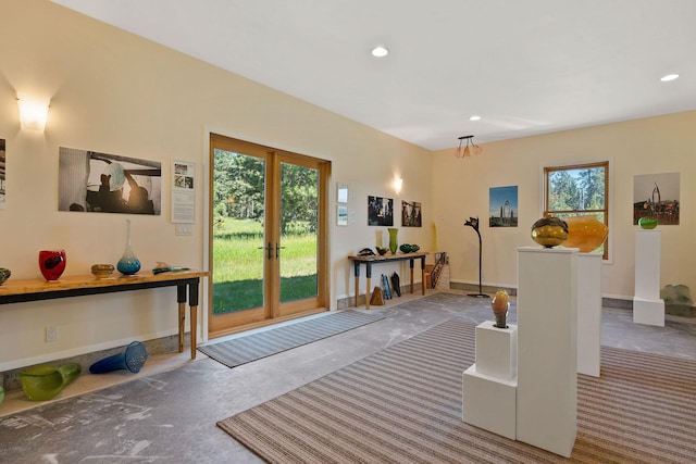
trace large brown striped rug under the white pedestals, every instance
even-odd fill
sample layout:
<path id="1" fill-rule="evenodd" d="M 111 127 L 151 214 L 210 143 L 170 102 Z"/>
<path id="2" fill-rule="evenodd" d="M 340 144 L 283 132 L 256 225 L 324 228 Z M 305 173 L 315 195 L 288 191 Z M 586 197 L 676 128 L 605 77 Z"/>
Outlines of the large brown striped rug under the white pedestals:
<path id="1" fill-rule="evenodd" d="M 273 463 L 694 463 L 696 362 L 602 348 L 570 459 L 461 421 L 474 325 L 449 321 L 224 419 Z"/>

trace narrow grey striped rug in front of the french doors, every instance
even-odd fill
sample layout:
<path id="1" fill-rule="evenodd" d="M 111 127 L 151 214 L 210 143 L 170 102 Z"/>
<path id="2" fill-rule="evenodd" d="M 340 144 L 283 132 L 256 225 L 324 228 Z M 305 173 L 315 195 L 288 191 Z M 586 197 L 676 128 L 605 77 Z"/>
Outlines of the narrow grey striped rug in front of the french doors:
<path id="1" fill-rule="evenodd" d="M 340 311 L 232 340 L 201 346 L 198 350 L 227 367 L 235 367 L 383 318 L 384 316 L 377 314 Z"/>

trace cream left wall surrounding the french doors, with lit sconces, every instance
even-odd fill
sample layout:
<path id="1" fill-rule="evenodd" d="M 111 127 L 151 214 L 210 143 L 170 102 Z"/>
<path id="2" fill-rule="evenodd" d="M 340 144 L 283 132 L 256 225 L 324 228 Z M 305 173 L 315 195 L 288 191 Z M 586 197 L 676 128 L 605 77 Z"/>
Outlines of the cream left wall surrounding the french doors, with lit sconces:
<path id="1" fill-rule="evenodd" d="M 424 227 L 402 228 L 400 238 L 428 248 L 430 152 L 46 0 L 0 4 L 0 138 L 7 140 L 0 266 L 11 268 L 13 279 L 40 277 L 40 249 L 66 250 L 65 275 L 115 263 L 126 217 L 145 268 L 157 261 L 203 268 L 204 192 L 198 191 L 194 235 L 175 236 L 165 179 L 175 159 L 197 163 L 197 185 L 206 183 L 209 130 L 332 161 L 332 308 L 352 292 L 345 256 L 374 247 L 381 234 L 387 240 L 386 228 L 366 226 L 369 195 L 396 204 L 421 201 Z M 20 129 L 17 93 L 50 99 L 45 134 Z M 163 214 L 59 212 L 59 147 L 162 162 Z M 403 178 L 399 196 L 391 190 L 394 175 Z M 347 227 L 334 225 L 337 181 L 348 184 L 355 210 Z M 381 271 L 397 268 L 406 271 L 396 264 Z M 176 334 L 174 299 L 172 289 L 158 289 L 2 305 L 0 372 Z M 45 343 L 46 326 L 58 327 L 57 342 Z"/>

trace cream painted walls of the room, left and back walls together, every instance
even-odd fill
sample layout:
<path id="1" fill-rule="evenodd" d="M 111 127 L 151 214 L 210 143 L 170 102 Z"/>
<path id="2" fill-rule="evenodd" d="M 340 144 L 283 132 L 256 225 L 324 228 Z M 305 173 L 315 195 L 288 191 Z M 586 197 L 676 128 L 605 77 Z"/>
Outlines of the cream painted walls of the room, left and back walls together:
<path id="1" fill-rule="evenodd" d="M 696 252 L 687 240 L 694 227 L 689 179 L 696 167 L 696 112 L 487 143 L 481 156 L 458 160 L 451 150 L 427 152 L 49 1 L 0 4 L 0 138 L 7 140 L 8 173 L 0 266 L 11 268 L 13 279 L 39 277 L 37 252 L 47 248 L 67 251 L 66 275 L 87 274 L 97 262 L 115 263 L 125 246 L 126 217 L 145 268 L 157 261 L 203 268 L 208 217 L 202 189 L 190 237 L 174 235 L 167 183 L 161 216 L 58 212 L 58 150 L 160 161 L 164 179 L 172 160 L 190 161 L 199 167 L 201 186 L 207 136 L 213 130 L 332 161 L 333 309 L 352 293 L 345 256 L 387 242 L 385 227 L 366 226 L 368 196 L 394 198 L 397 205 L 402 199 L 420 201 L 423 227 L 400 227 L 400 241 L 447 251 L 453 281 L 477 283 L 477 238 L 463 223 L 478 215 L 484 283 L 515 286 L 514 248 L 534 244 L 529 228 L 540 215 L 542 165 L 602 159 L 613 163 L 614 199 L 613 262 L 602 268 L 604 293 L 633 294 L 633 176 L 667 172 L 681 173 L 683 208 L 680 226 L 661 227 L 661 284 L 696 289 L 691 265 Z M 50 99 L 45 134 L 20 129 L 17 93 Z M 395 175 L 403 178 L 400 195 L 391 190 Z M 347 227 L 334 225 L 336 183 L 349 186 L 355 222 Z M 485 221 L 488 188 L 508 185 L 520 189 L 520 227 L 490 230 Z M 391 264 L 374 273 L 406 275 L 407 267 Z M 369 289 L 362 280 L 364 293 Z M 173 299 L 172 289 L 158 289 L 2 305 L 0 372 L 175 334 Z M 58 327 L 57 342 L 44 342 L 46 326 Z"/>

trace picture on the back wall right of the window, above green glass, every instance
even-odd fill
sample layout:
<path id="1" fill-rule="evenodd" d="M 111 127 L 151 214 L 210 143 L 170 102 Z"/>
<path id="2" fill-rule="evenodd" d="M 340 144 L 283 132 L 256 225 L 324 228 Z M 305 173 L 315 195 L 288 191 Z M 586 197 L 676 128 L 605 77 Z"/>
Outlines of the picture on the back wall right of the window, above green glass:
<path id="1" fill-rule="evenodd" d="M 644 216 L 655 217 L 659 225 L 679 225 L 679 173 L 633 176 L 633 224 Z"/>

